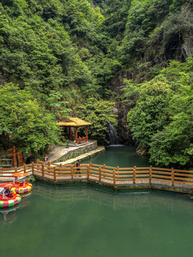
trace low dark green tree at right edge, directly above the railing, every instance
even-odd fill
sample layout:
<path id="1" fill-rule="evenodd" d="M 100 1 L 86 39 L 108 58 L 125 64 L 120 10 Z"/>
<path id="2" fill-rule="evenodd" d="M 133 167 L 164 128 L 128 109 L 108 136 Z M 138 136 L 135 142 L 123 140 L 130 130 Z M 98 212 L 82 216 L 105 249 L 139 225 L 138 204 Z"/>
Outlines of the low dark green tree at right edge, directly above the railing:
<path id="1" fill-rule="evenodd" d="M 157 166 L 191 167 L 193 164 L 193 116 L 179 114 L 151 138 L 150 161 Z"/>

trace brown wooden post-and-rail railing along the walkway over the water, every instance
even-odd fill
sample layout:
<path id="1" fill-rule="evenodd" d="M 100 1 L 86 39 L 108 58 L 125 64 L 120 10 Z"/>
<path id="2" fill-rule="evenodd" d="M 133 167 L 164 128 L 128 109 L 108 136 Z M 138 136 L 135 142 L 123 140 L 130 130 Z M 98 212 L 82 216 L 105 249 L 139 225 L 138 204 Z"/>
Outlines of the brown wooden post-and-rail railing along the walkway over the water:
<path id="1" fill-rule="evenodd" d="M 19 168 L 0 168 L 0 181 L 2 181 L 2 178 L 4 180 L 13 179 L 14 172 L 34 174 L 54 181 L 85 178 L 90 181 L 101 181 L 113 185 L 160 183 L 167 186 L 182 184 L 193 188 L 193 171 L 152 166 L 120 168 L 106 166 L 105 164 L 83 163 L 77 168 L 75 164 L 62 165 L 37 161 L 37 163 L 31 163 Z"/>

